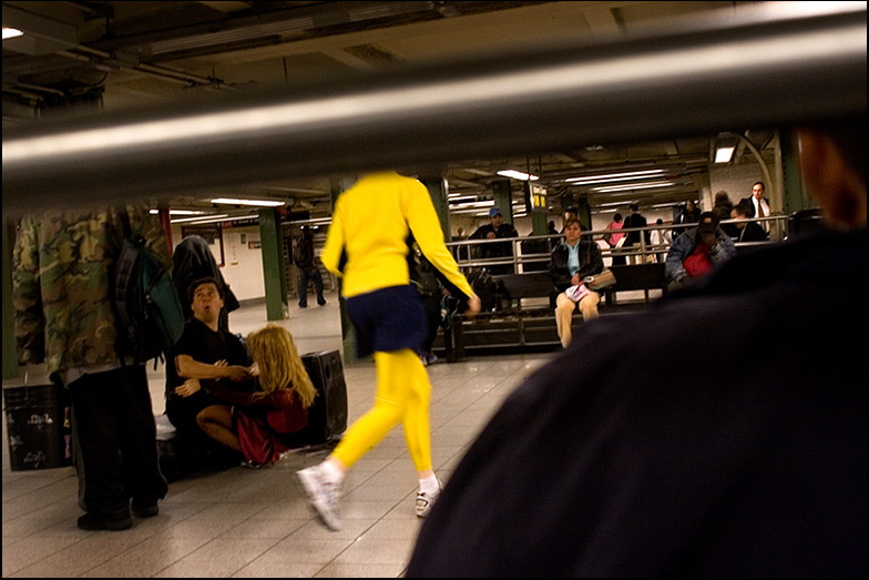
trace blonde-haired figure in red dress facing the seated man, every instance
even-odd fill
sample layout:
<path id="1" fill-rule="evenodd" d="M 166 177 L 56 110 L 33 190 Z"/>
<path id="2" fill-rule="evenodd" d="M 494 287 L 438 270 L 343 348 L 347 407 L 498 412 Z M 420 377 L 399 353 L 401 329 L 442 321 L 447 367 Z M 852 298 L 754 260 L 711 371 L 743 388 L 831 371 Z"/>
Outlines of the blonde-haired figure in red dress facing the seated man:
<path id="1" fill-rule="evenodd" d="M 254 360 L 254 390 L 203 380 L 202 387 L 226 405 L 206 407 L 196 423 L 209 437 L 243 454 L 249 465 L 259 466 L 305 444 L 303 430 L 317 390 L 286 328 L 270 324 L 251 333 L 247 348 Z"/>

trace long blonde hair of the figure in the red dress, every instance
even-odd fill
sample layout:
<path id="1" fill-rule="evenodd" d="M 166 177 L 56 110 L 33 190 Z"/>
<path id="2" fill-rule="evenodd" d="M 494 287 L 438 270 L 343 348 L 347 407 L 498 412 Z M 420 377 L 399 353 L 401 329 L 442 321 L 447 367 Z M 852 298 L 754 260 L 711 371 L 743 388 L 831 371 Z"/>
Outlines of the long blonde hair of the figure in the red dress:
<path id="1" fill-rule="evenodd" d="M 304 407 L 310 407 L 317 389 L 305 370 L 289 330 L 274 324 L 254 330 L 247 335 L 247 349 L 259 365 L 259 385 L 264 391 L 290 388 L 299 396 Z"/>

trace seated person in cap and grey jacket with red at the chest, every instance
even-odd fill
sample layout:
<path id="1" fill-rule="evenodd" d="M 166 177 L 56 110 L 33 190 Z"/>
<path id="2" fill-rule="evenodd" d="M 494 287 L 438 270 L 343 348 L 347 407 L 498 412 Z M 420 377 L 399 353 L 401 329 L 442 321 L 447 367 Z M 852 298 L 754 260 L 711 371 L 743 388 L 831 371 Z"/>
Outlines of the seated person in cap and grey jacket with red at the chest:
<path id="1" fill-rule="evenodd" d="M 669 246 L 664 271 L 667 291 L 691 284 L 735 255 L 733 241 L 718 227 L 718 216 L 702 213 L 697 227 L 684 232 Z"/>

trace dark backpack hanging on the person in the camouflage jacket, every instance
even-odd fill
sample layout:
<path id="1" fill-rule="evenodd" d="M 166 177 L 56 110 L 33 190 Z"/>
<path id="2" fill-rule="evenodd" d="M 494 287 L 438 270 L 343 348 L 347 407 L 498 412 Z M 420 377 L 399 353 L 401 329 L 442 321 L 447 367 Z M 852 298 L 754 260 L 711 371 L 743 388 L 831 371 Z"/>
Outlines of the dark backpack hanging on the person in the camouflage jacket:
<path id="1" fill-rule="evenodd" d="M 116 350 L 122 362 L 131 356 L 140 364 L 175 346 L 184 332 L 184 311 L 168 269 L 145 247 L 144 237 L 132 235 L 126 211 L 120 213 L 124 242 L 112 293 L 119 324 Z"/>

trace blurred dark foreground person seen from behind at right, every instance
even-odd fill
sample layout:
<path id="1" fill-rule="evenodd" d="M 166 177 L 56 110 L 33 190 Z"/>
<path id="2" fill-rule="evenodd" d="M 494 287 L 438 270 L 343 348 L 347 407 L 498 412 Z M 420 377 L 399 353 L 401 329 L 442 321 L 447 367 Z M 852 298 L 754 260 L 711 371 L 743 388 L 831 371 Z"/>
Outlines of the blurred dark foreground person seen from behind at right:
<path id="1" fill-rule="evenodd" d="M 866 577 L 866 346 L 842 337 L 866 116 L 798 138 L 836 230 L 583 325 L 471 446 L 407 577 Z"/>

